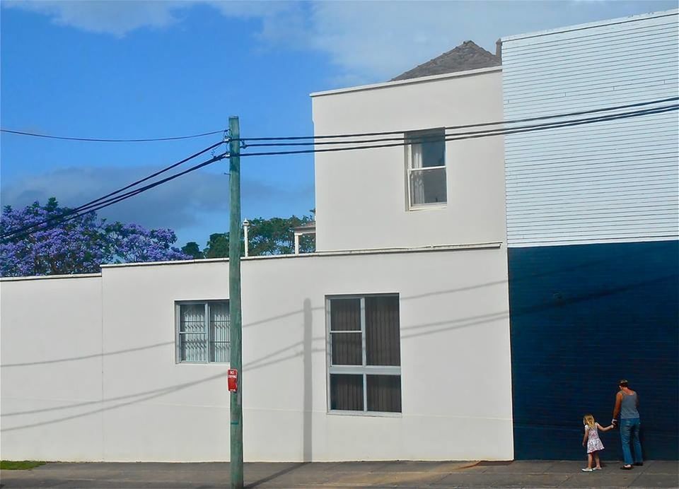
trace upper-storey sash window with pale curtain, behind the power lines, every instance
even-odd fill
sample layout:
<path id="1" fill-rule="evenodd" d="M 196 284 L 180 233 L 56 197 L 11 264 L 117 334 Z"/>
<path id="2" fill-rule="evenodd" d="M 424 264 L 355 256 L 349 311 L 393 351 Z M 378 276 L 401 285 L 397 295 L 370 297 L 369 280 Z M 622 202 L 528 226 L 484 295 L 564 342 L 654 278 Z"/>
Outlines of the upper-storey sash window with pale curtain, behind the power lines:
<path id="1" fill-rule="evenodd" d="M 446 131 L 406 134 L 409 208 L 446 204 Z"/>

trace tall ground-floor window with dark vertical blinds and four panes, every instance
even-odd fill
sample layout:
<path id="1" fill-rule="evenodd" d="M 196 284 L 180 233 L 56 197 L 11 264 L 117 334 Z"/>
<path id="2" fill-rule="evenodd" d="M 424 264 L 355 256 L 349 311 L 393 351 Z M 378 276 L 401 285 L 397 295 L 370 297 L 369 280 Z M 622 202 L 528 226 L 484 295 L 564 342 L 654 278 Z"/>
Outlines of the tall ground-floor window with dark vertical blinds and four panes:
<path id="1" fill-rule="evenodd" d="M 330 411 L 401 412 L 398 295 L 329 297 Z"/>

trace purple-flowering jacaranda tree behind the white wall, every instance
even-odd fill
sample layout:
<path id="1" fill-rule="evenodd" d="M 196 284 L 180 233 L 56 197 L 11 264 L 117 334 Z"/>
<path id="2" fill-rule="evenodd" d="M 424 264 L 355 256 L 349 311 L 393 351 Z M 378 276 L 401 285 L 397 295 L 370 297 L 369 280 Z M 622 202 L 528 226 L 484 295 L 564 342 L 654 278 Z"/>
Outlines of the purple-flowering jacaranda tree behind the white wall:
<path id="1" fill-rule="evenodd" d="M 0 218 L 0 275 L 95 273 L 106 263 L 191 258 L 172 246 L 177 240 L 172 230 L 107 223 L 96 213 L 70 218 L 68 212 L 54 197 L 45 206 L 6 206 Z M 21 231 L 38 223 L 43 224 Z"/>

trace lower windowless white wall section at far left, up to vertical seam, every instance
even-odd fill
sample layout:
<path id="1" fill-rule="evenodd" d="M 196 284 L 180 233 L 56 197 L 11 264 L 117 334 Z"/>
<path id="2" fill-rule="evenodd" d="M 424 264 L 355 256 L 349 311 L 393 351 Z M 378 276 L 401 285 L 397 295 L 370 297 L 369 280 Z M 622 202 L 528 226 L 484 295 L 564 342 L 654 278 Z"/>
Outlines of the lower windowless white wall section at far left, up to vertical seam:
<path id="1" fill-rule="evenodd" d="M 100 276 L 0 281 L 3 459 L 103 459 L 101 297 Z"/>

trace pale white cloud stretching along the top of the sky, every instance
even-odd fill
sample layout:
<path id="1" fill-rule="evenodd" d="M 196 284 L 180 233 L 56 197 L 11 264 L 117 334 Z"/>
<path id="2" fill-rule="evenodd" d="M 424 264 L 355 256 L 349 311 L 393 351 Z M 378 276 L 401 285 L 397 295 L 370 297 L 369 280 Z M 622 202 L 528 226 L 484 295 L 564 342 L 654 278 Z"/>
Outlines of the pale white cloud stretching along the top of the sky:
<path id="1" fill-rule="evenodd" d="M 55 23 L 123 36 L 165 28 L 209 5 L 228 18 L 260 20 L 259 47 L 327 55 L 334 83 L 384 81 L 465 40 L 494 52 L 504 35 L 675 8 L 654 1 L 4 1 Z M 328 88 L 328 87 L 326 87 Z"/>

